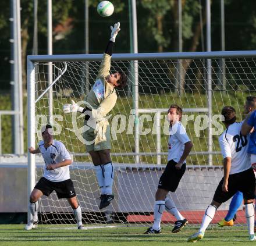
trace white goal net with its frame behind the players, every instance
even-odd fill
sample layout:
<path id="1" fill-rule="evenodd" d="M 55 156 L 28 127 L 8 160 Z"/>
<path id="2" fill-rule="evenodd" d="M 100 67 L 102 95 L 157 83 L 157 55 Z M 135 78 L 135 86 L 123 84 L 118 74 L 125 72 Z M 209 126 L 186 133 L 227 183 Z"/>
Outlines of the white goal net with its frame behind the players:
<path id="1" fill-rule="evenodd" d="M 83 141 L 84 119 L 79 113 L 64 114 L 62 106 L 72 99 L 83 105 L 95 82 L 102 55 L 29 56 L 29 145 L 37 146 L 41 140 L 42 124 L 52 124 L 54 138 L 65 144 L 73 158 L 70 175 L 84 223 L 151 224 L 155 191 L 167 163 L 169 123 L 165 117 L 169 106 L 177 104 L 184 110 L 182 123 L 194 147 L 177 191 L 169 195 L 190 223 L 201 223 L 223 176 L 218 144 L 224 130 L 221 109 L 231 105 L 238 120 L 244 118 L 246 97 L 255 95 L 256 90 L 255 55 L 113 55 L 111 72 L 125 72 L 129 85 L 117 90 L 118 101 L 108 117 L 115 199 L 101 211 L 94 166 Z M 33 158 L 29 155 L 29 192 L 44 170 L 42 158 Z M 221 205 L 214 223 L 225 217 L 229 203 Z M 237 223 L 246 222 L 242 210 L 243 204 L 237 212 Z M 72 212 L 67 201 L 58 199 L 55 192 L 40 200 L 42 223 L 76 223 Z M 163 213 L 162 222 L 174 221 L 172 215 Z"/>

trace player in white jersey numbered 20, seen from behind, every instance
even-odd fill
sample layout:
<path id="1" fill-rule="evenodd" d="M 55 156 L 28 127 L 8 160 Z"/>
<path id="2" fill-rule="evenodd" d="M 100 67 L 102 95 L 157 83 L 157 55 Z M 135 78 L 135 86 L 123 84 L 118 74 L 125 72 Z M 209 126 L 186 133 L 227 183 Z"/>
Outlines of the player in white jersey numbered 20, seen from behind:
<path id="1" fill-rule="evenodd" d="M 242 122 L 236 122 L 236 110 L 231 106 L 222 109 L 226 130 L 219 137 L 219 145 L 223 155 L 224 177 L 216 188 L 211 205 L 205 211 L 198 233 L 188 238 L 188 242 L 196 242 L 204 237 L 205 230 L 214 218 L 219 206 L 226 202 L 237 191 L 243 192 L 246 206 L 249 240 L 255 241 L 254 236 L 254 190 L 255 176 L 251 168 L 250 156 L 247 153 L 249 136 L 241 134 Z"/>

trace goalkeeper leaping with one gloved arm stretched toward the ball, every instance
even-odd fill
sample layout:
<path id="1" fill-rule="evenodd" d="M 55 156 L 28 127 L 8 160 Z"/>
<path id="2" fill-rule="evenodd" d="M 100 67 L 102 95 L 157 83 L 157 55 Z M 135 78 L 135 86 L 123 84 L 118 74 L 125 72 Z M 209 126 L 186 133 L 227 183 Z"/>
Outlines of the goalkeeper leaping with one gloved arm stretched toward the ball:
<path id="1" fill-rule="evenodd" d="M 113 44 L 116 35 L 120 31 L 119 27 L 119 22 L 114 27 L 111 26 L 111 38 L 106 46 L 95 84 L 86 97 L 86 103 L 90 106 L 83 108 L 74 101 L 72 101 L 72 104 L 63 105 L 63 112 L 65 113 L 80 112 L 85 115 L 84 123 L 89 129 L 84 133 L 86 149 L 93 159 L 98 185 L 101 189 L 99 209 L 108 206 L 114 198 L 112 194 L 114 170 L 110 156 L 110 127 L 105 116 L 116 104 L 117 95 L 115 88 L 125 87 L 127 83 L 125 73 L 109 73 Z M 96 123 L 95 128 L 90 126 L 90 121 Z"/>

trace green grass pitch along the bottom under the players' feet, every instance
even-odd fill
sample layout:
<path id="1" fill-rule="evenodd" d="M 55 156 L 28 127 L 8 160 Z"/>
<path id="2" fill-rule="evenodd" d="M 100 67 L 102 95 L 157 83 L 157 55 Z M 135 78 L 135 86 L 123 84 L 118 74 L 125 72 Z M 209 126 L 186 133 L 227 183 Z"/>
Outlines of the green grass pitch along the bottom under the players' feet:
<path id="1" fill-rule="evenodd" d="M 62 245 L 62 246 L 148 246 L 148 245 L 190 245 L 187 238 L 197 232 L 198 226 L 187 226 L 180 233 L 170 233 L 172 226 L 162 226 L 162 233 L 143 234 L 147 227 L 106 227 L 88 226 L 87 230 L 77 230 L 74 225 L 39 225 L 38 229 L 24 230 L 23 224 L 0 225 L 0 245 Z M 219 228 L 212 225 L 198 245 L 247 245 L 246 226 Z"/>

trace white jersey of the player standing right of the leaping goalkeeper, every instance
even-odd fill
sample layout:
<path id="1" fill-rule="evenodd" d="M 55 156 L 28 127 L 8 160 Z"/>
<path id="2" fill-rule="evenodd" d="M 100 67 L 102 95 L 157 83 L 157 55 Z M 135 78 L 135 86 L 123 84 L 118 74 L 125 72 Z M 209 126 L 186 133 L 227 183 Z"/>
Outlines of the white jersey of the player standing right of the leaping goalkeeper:
<path id="1" fill-rule="evenodd" d="M 189 142 L 190 139 L 187 136 L 186 130 L 182 126 L 182 123 L 176 122 L 169 129 L 170 137 L 168 142 L 168 162 L 173 160 L 179 162 L 184 152 L 184 144 Z M 186 163 L 186 160 L 184 161 Z"/>

